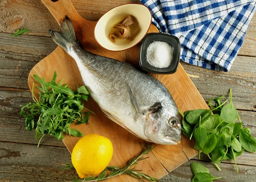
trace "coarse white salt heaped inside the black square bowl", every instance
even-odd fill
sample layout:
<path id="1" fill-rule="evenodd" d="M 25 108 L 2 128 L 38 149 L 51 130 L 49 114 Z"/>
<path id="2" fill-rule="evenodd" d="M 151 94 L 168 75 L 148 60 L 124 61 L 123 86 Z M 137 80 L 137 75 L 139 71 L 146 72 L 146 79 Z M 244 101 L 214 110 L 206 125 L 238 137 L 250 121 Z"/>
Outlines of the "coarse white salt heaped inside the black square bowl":
<path id="1" fill-rule="evenodd" d="M 149 44 L 146 54 L 147 62 L 156 68 L 167 68 L 173 59 L 172 46 L 162 41 L 154 41 Z"/>

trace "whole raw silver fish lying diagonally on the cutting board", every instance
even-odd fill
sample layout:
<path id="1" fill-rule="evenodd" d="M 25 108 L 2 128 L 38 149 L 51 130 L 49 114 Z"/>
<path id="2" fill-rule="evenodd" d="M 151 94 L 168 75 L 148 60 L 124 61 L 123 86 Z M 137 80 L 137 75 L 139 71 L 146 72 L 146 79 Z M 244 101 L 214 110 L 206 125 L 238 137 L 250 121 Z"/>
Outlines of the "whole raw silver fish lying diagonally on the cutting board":
<path id="1" fill-rule="evenodd" d="M 161 82 L 132 65 L 85 51 L 67 17 L 61 32 L 49 32 L 76 60 L 84 85 L 109 119 L 149 142 L 180 143 L 178 109 Z"/>

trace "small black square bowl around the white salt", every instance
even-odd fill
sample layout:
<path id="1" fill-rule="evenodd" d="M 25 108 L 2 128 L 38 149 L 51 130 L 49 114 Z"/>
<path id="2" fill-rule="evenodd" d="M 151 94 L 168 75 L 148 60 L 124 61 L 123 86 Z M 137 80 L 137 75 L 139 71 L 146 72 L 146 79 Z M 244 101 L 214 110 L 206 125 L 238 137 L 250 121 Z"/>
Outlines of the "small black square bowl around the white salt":
<path id="1" fill-rule="evenodd" d="M 163 41 L 166 43 L 169 43 L 173 48 L 173 59 L 172 63 L 167 68 L 156 68 L 154 66 L 151 66 L 147 62 L 147 49 L 149 44 L 151 44 L 154 41 Z M 148 33 L 144 39 L 142 40 L 142 43 L 140 45 L 140 68 L 144 71 L 148 71 L 151 73 L 157 73 L 157 74 L 173 74 L 177 71 L 178 65 L 180 62 L 180 40 L 178 37 L 175 37 L 170 34 L 163 34 L 163 33 Z"/>

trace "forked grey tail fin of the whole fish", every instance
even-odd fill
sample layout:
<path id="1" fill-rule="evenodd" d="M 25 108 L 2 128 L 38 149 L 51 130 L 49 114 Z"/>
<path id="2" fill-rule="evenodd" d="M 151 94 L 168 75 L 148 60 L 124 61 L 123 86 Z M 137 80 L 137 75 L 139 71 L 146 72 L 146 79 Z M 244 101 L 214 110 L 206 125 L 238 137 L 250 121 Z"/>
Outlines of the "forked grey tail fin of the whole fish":
<path id="1" fill-rule="evenodd" d="M 62 21 L 60 30 L 61 32 L 49 30 L 50 36 L 56 44 L 68 51 L 77 40 L 73 24 L 67 16 Z"/>

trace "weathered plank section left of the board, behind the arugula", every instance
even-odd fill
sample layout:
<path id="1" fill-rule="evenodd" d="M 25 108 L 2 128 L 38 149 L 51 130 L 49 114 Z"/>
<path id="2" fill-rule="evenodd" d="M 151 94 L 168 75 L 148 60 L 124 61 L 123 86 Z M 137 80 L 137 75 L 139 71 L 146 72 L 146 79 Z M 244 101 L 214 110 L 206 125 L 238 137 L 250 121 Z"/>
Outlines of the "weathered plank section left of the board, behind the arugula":
<path id="1" fill-rule="evenodd" d="M 35 139 L 35 130 L 26 131 L 25 118 L 20 116 L 19 105 L 27 102 L 32 102 L 29 90 L 0 88 L 0 141 L 38 143 Z M 65 147 L 61 140 L 52 136 L 44 137 L 41 145 Z"/>

